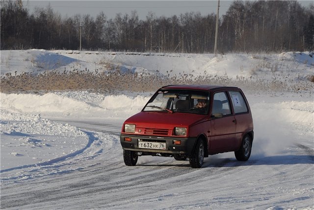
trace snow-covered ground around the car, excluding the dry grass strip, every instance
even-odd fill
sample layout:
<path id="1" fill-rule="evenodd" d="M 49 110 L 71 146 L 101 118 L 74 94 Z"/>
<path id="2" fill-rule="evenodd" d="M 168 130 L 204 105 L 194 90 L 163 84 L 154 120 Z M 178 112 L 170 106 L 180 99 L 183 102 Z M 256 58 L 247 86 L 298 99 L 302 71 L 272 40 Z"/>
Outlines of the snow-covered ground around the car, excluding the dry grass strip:
<path id="1" fill-rule="evenodd" d="M 119 134 L 153 92 L 0 93 L 1 209 L 314 210 L 314 53 L 212 54 L 1 51 L 1 76 L 46 70 L 279 80 L 243 88 L 253 113 L 252 155 L 123 161 Z"/>

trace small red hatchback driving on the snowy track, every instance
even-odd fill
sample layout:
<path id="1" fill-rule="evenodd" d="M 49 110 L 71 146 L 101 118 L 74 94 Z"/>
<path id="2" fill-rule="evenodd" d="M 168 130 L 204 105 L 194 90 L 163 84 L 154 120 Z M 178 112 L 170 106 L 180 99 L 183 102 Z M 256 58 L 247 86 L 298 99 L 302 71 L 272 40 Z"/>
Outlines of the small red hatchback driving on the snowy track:
<path id="1" fill-rule="evenodd" d="M 204 157 L 218 153 L 248 160 L 253 137 L 251 110 L 240 88 L 170 85 L 124 122 L 120 142 L 128 166 L 150 155 L 188 158 L 192 168 L 200 168 Z"/>

